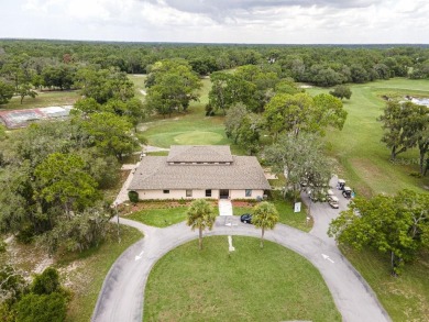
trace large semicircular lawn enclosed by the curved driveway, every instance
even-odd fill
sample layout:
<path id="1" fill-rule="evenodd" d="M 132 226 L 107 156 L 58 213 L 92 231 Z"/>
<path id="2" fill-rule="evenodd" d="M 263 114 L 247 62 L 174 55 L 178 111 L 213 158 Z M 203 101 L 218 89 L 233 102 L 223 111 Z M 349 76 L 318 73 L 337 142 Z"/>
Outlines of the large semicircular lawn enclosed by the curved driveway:
<path id="1" fill-rule="evenodd" d="M 151 271 L 144 321 L 341 321 L 319 271 L 271 242 L 233 236 L 189 242 Z"/>

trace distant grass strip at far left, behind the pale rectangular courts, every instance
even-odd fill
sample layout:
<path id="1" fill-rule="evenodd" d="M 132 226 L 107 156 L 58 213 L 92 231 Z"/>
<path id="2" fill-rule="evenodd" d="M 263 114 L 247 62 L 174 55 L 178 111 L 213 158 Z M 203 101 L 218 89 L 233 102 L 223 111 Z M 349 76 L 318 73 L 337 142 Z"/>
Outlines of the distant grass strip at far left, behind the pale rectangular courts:
<path id="1" fill-rule="evenodd" d="M 76 90 L 38 91 L 34 99 L 25 97 L 22 104 L 20 97 L 13 97 L 9 103 L 0 106 L 0 110 L 73 106 L 80 97 Z"/>

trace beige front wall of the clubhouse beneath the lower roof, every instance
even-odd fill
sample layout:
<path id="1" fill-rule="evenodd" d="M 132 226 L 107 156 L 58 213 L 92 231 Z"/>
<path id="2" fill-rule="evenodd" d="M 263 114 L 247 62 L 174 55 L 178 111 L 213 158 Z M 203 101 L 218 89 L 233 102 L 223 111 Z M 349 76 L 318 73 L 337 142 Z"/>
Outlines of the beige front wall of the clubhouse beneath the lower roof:
<path id="1" fill-rule="evenodd" d="M 169 193 L 164 193 L 163 190 L 138 190 L 139 199 L 200 199 L 206 198 L 206 190 L 193 190 L 193 197 L 186 197 L 186 190 L 169 190 Z M 230 190 L 231 199 L 256 199 L 263 196 L 264 190 L 252 190 L 251 197 L 245 197 L 245 190 Z M 212 189 L 210 199 L 219 199 L 219 190 Z"/>

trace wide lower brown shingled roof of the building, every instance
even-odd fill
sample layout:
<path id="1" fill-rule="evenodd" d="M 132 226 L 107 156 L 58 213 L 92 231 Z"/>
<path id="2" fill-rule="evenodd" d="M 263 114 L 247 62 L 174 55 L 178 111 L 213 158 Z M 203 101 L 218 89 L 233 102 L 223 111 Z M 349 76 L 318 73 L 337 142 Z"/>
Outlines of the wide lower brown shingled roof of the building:
<path id="1" fill-rule="evenodd" d="M 146 156 L 129 190 L 271 189 L 256 157 L 231 156 L 231 160 L 229 166 L 168 165 L 168 157 Z"/>

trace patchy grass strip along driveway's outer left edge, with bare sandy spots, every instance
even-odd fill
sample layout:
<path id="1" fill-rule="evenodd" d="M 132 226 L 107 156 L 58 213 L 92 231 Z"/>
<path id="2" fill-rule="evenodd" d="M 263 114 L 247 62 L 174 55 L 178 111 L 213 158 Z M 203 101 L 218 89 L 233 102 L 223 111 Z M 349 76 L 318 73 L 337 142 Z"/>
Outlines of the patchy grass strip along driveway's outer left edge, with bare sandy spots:
<path id="1" fill-rule="evenodd" d="M 113 227 L 116 230 L 116 227 Z M 58 268 L 67 284 L 72 284 L 73 298 L 68 306 L 66 321 L 90 321 L 102 282 L 112 264 L 132 244 L 142 238 L 140 231 L 121 225 L 121 243 L 116 238 L 100 247 L 82 253 L 63 255 L 58 258 Z"/>

